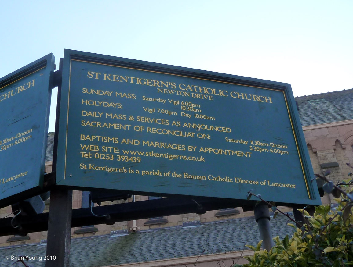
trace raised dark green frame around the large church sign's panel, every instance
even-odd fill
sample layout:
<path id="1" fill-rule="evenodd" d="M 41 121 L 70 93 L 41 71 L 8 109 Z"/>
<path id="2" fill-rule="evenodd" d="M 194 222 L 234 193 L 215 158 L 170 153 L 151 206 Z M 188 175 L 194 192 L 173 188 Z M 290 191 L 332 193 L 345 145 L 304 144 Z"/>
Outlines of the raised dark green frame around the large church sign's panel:
<path id="1" fill-rule="evenodd" d="M 101 65 L 109 65 L 116 66 L 121 68 L 130 68 L 130 69 L 138 69 L 146 72 L 154 72 L 154 73 L 163 73 L 168 75 L 182 76 L 182 77 L 191 77 L 193 79 L 201 79 L 207 81 L 215 81 L 227 84 L 234 84 L 239 86 L 246 86 L 249 88 L 262 88 L 262 89 L 270 89 L 275 91 L 283 92 L 289 120 L 291 123 L 291 127 L 294 134 L 295 145 L 297 147 L 301 169 L 304 174 L 305 184 L 306 184 L 306 192 L 308 194 L 308 199 L 295 199 L 296 195 L 291 195 L 292 200 L 285 199 L 266 199 L 269 201 L 276 201 L 277 204 L 283 204 L 287 206 L 293 205 L 320 205 L 321 199 L 319 197 L 318 189 L 316 183 L 313 184 L 311 179 L 313 178 L 313 170 L 310 164 L 309 153 L 306 148 L 304 133 L 301 128 L 301 123 L 299 119 L 299 115 L 297 112 L 297 105 L 295 103 L 291 85 L 288 83 L 282 82 L 274 82 L 268 80 L 261 80 L 231 74 L 223 74 L 216 72 L 209 72 L 205 70 L 191 69 L 185 67 L 178 66 L 170 66 L 166 64 L 145 62 L 139 60 L 132 60 L 121 57 L 93 54 L 89 52 L 76 51 L 76 50 L 68 50 L 65 49 L 64 52 L 64 60 L 63 60 L 63 69 L 62 69 L 62 86 L 61 86 L 61 107 L 60 107 L 60 120 L 59 120 L 59 133 L 58 133 L 58 155 L 57 155 L 57 176 L 56 176 L 56 184 L 58 186 L 70 187 L 78 190 L 94 190 L 94 188 L 102 188 L 102 189 L 115 189 L 121 192 L 131 192 L 134 194 L 142 194 L 142 195 L 157 195 L 157 196 L 172 196 L 172 195 L 191 195 L 191 194 L 180 194 L 180 193 L 161 193 L 161 192 L 152 192 L 152 191 L 143 191 L 143 190 L 126 190 L 126 188 L 112 188 L 107 186 L 98 186 L 92 187 L 84 184 L 70 184 L 67 180 L 65 181 L 65 158 L 66 158 L 66 142 L 67 142 L 67 127 L 68 127 L 68 103 L 69 103 L 69 92 L 68 88 L 70 85 L 70 72 L 71 72 L 71 61 L 81 61 L 93 64 L 101 64 Z M 75 78 L 73 78 L 75 79 Z M 67 174 L 68 175 L 68 174 Z M 261 175 L 261 174 L 259 174 Z M 268 174 L 266 174 L 268 175 Z M 286 173 L 283 173 L 286 175 Z M 252 189 L 252 188 L 251 188 Z M 255 191 L 257 194 L 262 194 L 261 190 Z M 198 196 L 206 196 L 207 195 L 199 195 Z M 210 197 L 215 197 L 215 195 L 211 195 Z M 219 195 L 220 198 L 225 198 L 223 195 Z M 227 197 L 226 197 L 227 198 Z M 244 192 L 244 196 L 239 198 L 235 197 L 233 199 L 244 200 L 246 202 L 246 191 Z"/>

